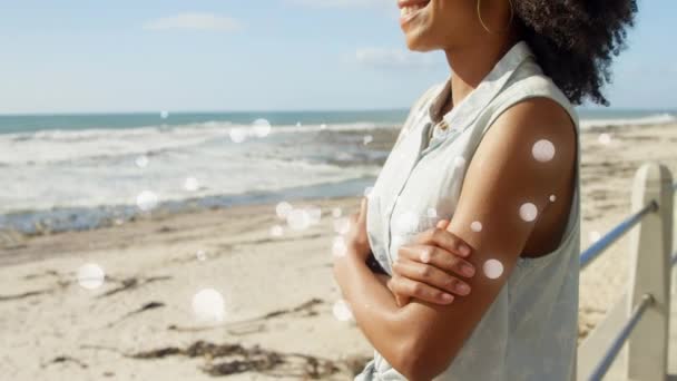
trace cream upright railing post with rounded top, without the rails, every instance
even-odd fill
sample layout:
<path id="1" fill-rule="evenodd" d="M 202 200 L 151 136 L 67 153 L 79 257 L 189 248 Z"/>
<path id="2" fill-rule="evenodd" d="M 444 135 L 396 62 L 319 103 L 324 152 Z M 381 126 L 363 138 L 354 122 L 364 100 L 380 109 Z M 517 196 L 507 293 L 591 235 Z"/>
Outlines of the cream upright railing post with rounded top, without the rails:
<path id="1" fill-rule="evenodd" d="M 658 211 L 644 217 L 630 232 L 630 292 L 627 315 L 650 294 L 655 303 L 646 310 L 628 339 L 626 377 L 630 380 L 665 381 L 668 324 L 670 319 L 670 250 L 673 246 L 673 176 L 657 163 L 642 165 L 632 184 L 632 212 L 656 201 Z"/>

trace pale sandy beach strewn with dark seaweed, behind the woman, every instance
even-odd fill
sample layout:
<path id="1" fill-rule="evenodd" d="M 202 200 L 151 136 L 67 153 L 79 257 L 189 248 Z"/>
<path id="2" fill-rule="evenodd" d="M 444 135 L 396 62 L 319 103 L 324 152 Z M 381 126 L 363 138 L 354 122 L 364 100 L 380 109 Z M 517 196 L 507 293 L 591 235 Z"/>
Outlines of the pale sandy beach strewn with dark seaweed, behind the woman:
<path id="1" fill-rule="evenodd" d="M 608 135 L 605 135 L 608 134 Z M 384 144 L 390 137 L 376 137 Z M 581 245 L 630 212 L 631 182 L 647 160 L 677 173 L 677 125 L 608 126 L 582 134 Z M 336 208 L 359 197 L 292 202 L 321 219 L 294 231 L 276 204 L 140 217 L 85 232 L 0 232 L 2 377 L 9 380 L 349 380 L 372 348 L 335 318 L 332 277 Z M 272 235 L 284 226 L 281 236 Z M 628 237 L 592 263 L 580 283 L 585 338 L 621 295 Z M 87 263 L 100 287 L 78 283 Z M 202 290 L 224 297 L 222 322 L 196 319 Z"/>

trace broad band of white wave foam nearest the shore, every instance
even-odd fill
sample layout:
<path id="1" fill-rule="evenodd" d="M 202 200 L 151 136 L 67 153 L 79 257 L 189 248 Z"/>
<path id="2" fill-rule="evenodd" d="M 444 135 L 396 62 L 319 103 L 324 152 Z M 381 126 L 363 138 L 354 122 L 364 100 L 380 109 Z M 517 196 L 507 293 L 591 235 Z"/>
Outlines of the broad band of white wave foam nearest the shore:
<path id="1" fill-rule="evenodd" d="M 377 166 L 371 165 L 345 168 L 306 160 L 243 158 L 208 162 L 206 158 L 188 163 L 178 157 L 168 158 L 155 162 L 148 168 L 120 165 L 24 170 L 16 166 L 6 167 L 3 175 L 9 180 L 0 190 L 0 215 L 57 207 L 135 205 L 144 190 L 157 195 L 158 203 L 277 192 L 376 176 L 379 172 Z M 197 189 L 185 187 L 187 178 L 199 184 Z"/>

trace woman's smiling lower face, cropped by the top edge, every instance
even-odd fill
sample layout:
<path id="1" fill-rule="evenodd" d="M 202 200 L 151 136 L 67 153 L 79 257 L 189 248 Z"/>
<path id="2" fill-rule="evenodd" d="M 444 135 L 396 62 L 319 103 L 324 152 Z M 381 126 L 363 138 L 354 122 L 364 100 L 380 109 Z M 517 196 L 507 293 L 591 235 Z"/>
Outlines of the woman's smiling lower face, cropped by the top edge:
<path id="1" fill-rule="evenodd" d="M 429 51 L 472 43 L 483 32 L 477 1 L 398 0 L 409 49 Z"/>

